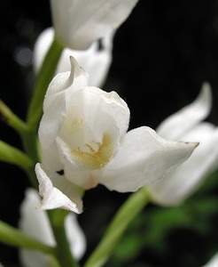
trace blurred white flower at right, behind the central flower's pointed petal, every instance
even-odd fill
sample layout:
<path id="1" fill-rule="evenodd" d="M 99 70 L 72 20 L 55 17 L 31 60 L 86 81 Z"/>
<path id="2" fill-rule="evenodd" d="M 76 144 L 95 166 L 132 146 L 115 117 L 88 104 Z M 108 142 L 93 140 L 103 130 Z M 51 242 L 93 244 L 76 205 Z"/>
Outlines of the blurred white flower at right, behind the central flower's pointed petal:
<path id="1" fill-rule="evenodd" d="M 218 168 L 218 128 L 203 122 L 211 106 L 210 85 L 205 83 L 196 101 L 167 117 L 158 127 L 157 133 L 167 140 L 199 142 L 187 161 L 161 181 L 148 186 L 153 200 L 160 205 L 181 203 Z"/>

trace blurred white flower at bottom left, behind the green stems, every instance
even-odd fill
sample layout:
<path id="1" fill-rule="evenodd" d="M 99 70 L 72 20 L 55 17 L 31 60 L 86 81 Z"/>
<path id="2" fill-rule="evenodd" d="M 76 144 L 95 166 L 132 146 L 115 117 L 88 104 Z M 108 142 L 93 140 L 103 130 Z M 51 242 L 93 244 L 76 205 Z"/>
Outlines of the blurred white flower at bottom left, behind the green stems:
<path id="1" fill-rule="evenodd" d="M 51 231 L 48 215 L 35 208 L 39 202 L 38 192 L 34 189 L 27 189 L 26 197 L 20 206 L 19 229 L 46 245 L 55 246 L 56 241 Z M 79 260 L 85 252 L 86 240 L 75 214 L 66 215 L 65 226 L 72 254 L 75 259 Z M 19 258 L 24 267 L 46 267 L 50 266 L 52 261 L 51 256 L 29 249 L 20 249 Z"/>

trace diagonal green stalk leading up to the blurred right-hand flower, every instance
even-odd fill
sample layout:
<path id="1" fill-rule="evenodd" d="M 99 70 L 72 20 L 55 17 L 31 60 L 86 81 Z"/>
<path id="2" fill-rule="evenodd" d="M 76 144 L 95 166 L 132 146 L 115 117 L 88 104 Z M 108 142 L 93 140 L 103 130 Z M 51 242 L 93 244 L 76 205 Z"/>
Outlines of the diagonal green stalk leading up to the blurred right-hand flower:
<path id="1" fill-rule="evenodd" d="M 127 230 L 130 223 L 136 218 L 144 206 L 150 201 L 150 194 L 146 188 L 142 188 L 130 195 L 125 203 L 115 214 L 112 223 L 109 225 L 105 236 L 98 244 L 84 267 L 104 266 L 109 257 L 113 254 L 113 249 Z"/>

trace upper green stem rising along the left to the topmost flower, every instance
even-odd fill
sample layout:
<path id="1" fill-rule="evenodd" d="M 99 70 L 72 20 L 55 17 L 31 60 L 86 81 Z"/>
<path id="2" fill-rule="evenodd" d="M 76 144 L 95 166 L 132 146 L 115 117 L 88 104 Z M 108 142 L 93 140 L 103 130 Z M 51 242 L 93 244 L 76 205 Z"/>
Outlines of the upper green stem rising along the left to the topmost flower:
<path id="1" fill-rule="evenodd" d="M 64 47 L 58 43 L 58 40 L 54 38 L 53 43 L 51 44 L 51 47 L 44 58 L 43 66 L 41 67 L 36 78 L 34 95 L 30 102 L 27 113 L 27 125 L 29 125 L 33 130 L 37 129 L 39 120 L 42 116 L 43 99 L 51 79 L 55 75 L 63 48 Z"/>

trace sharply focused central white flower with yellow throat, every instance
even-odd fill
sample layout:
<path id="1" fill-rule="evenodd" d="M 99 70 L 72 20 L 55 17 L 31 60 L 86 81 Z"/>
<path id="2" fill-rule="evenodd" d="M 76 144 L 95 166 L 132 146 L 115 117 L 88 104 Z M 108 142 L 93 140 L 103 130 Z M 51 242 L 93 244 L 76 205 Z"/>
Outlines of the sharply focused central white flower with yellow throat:
<path id="1" fill-rule="evenodd" d="M 197 143 L 168 142 L 146 126 L 127 133 L 126 102 L 88 86 L 85 71 L 73 58 L 71 63 L 71 73 L 53 78 L 43 102 L 43 165 L 35 167 L 41 208 L 80 213 L 79 189 L 101 183 L 109 190 L 136 191 L 191 155 Z"/>

